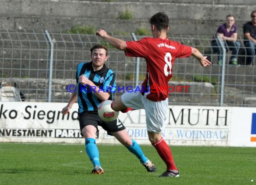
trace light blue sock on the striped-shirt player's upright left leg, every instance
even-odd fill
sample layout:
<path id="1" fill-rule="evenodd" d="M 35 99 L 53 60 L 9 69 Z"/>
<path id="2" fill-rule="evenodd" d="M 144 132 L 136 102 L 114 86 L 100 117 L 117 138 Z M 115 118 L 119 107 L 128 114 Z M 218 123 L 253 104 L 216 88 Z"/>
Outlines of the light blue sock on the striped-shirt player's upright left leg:
<path id="1" fill-rule="evenodd" d="M 96 139 L 87 138 L 85 139 L 85 151 L 93 163 L 93 166 L 98 165 L 101 167 L 100 154 L 96 145 Z"/>

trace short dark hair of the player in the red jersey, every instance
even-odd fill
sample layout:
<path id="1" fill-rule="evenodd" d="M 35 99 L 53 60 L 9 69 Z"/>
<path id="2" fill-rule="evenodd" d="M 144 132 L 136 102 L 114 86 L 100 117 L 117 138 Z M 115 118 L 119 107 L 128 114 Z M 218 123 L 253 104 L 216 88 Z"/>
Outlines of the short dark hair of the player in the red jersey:
<path id="1" fill-rule="evenodd" d="M 159 12 L 154 14 L 150 18 L 150 24 L 156 26 L 156 29 L 158 31 L 162 29 L 167 29 L 169 26 L 169 18 L 168 15 L 166 15 L 164 12 Z"/>

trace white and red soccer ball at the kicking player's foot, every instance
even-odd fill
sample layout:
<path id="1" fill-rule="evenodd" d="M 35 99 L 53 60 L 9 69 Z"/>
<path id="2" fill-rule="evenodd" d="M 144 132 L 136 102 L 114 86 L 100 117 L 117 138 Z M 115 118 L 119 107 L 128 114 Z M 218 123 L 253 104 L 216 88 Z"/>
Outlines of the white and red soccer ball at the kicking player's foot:
<path id="1" fill-rule="evenodd" d="M 119 111 L 117 112 L 111 108 L 111 103 L 111 100 L 102 101 L 98 107 L 98 115 L 107 122 L 114 121 L 119 115 Z"/>

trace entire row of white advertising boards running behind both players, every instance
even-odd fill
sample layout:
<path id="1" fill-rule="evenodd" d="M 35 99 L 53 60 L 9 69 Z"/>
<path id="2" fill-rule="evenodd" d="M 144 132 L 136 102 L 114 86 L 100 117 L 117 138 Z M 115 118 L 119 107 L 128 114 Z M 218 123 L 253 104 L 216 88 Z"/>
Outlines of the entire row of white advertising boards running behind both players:
<path id="1" fill-rule="evenodd" d="M 84 143 L 78 105 L 63 116 L 66 103 L 1 102 L 0 142 Z M 169 106 L 163 137 L 170 145 L 256 147 L 256 108 Z M 119 119 L 139 144 L 148 144 L 144 110 L 120 112 Z M 99 127 L 97 143 L 118 144 Z"/>

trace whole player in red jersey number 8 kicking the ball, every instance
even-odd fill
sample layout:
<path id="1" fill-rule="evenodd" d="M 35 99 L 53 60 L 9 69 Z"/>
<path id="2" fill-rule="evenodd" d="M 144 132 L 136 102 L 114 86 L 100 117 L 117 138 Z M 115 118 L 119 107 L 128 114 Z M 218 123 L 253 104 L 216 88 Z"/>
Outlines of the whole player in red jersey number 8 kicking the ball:
<path id="1" fill-rule="evenodd" d="M 140 84 L 141 92 L 124 93 L 111 105 L 115 111 L 132 109 L 145 109 L 146 125 L 151 144 L 159 156 L 166 163 L 167 170 L 160 177 L 178 177 L 179 171 L 172 158 L 172 153 L 163 140 L 162 131 L 167 119 L 168 89 L 161 88 L 154 91 L 152 87 L 168 87 L 172 78 L 172 66 L 177 57 L 195 57 L 201 66 L 209 66 L 210 61 L 198 49 L 169 40 L 169 18 L 159 12 L 150 18 L 153 38 L 145 37 L 138 41 L 124 41 L 107 35 L 106 31 L 98 30 L 96 35 L 112 44 L 115 48 L 124 50 L 128 57 L 143 57 L 146 59 L 146 79 Z"/>

